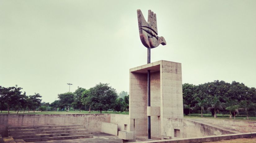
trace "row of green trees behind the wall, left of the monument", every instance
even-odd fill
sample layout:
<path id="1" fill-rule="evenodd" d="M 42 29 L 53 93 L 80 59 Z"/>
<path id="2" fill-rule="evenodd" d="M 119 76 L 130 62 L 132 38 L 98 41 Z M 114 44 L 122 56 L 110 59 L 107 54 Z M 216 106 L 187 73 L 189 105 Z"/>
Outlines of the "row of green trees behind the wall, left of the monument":
<path id="1" fill-rule="evenodd" d="M 22 93 L 18 87 L 2 87 L 0 86 L 0 109 L 20 111 L 33 109 L 39 111 L 69 111 L 72 110 L 97 110 L 97 111 L 113 111 L 128 112 L 129 111 L 129 95 L 128 92 L 120 92 L 119 95 L 115 88 L 109 84 L 99 83 L 94 87 L 85 89 L 78 87 L 75 92 L 66 92 L 58 94 L 58 99 L 54 102 L 41 102 L 42 96 L 39 93 L 34 95 L 26 95 Z M 17 112 L 17 114 L 18 114 Z"/>

